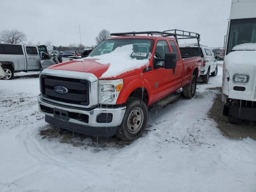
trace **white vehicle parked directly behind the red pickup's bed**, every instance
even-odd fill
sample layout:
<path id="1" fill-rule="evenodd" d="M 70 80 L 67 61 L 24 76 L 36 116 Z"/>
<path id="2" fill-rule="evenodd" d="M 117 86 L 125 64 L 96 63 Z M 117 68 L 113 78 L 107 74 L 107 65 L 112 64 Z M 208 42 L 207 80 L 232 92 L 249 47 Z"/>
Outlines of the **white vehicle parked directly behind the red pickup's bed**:
<path id="1" fill-rule="evenodd" d="M 197 44 L 180 44 L 180 53 L 182 57 L 202 57 L 201 76 L 203 83 L 208 83 L 209 76 L 216 76 L 218 73 L 217 61 L 212 50 L 206 46 L 200 45 L 200 53 Z"/>

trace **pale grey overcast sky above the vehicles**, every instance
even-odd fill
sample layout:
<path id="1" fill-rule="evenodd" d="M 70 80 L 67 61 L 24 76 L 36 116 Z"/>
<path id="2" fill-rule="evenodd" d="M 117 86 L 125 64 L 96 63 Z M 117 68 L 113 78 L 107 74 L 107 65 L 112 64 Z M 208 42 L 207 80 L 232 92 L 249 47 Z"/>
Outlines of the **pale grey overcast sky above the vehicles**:
<path id="1" fill-rule="evenodd" d="M 34 44 L 94 45 L 98 32 L 181 29 L 223 46 L 231 0 L 2 0 L 0 30 L 18 29 Z"/>

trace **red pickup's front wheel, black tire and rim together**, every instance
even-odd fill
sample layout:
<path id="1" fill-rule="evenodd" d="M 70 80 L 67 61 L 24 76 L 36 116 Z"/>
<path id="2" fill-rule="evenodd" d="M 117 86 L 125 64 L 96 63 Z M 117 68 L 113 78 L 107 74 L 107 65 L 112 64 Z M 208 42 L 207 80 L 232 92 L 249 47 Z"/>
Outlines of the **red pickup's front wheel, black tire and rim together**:
<path id="1" fill-rule="evenodd" d="M 116 136 L 124 141 L 133 141 L 140 137 L 148 122 L 148 108 L 139 98 L 130 97 L 126 102 L 126 112 Z"/>

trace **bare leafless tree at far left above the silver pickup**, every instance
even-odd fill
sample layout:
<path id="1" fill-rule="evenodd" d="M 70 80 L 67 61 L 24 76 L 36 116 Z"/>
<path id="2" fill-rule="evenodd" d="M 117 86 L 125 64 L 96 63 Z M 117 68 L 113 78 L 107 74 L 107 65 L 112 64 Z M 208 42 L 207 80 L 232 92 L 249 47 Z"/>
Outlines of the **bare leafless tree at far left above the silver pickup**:
<path id="1" fill-rule="evenodd" d="M 27 36 L 17 29 L 12 30 L 2 30 L 0 32 L 0 42 L 8 43 L 8 44 L 20 44 L 25 42 Z"/>

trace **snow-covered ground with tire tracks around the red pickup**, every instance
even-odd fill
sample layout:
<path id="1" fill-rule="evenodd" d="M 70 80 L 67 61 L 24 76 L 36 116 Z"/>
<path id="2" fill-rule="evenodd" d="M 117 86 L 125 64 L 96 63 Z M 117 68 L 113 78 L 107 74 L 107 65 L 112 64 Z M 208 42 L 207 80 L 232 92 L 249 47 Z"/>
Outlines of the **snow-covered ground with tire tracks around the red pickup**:
<path id="1" fill-rule="evenodd" d="M 207 116 L 218 71 L 195 98 L 151 113 L 141 138 L 104 148 L 42 139 L 50 126 L 38 112 L 38 77 L 0 80 L 0 191 L 255 192 L 256 141 L 224 137 Z"/>

